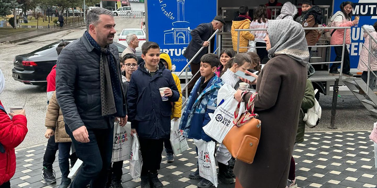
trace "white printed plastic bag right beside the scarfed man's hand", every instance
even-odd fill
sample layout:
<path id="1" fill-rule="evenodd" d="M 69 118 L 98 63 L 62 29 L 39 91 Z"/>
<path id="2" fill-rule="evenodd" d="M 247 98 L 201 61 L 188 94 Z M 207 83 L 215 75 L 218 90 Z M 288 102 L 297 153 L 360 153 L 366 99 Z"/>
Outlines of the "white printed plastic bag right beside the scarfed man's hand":
<path id="1" fill-rule="evenodd" d="M 114 140 L 113 140 L 113 154 L 111 162 L 124 161 L 130 159 L 130 152 L 132 147 L 131 123 L 122 127 L 118 121 L 114 123 Z"/>

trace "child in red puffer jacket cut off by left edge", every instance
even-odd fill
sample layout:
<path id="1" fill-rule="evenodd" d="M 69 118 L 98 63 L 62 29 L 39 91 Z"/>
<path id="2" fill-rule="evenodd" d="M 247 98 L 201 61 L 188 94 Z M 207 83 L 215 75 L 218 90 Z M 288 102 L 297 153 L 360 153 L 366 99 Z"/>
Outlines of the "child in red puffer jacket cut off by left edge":
<path id="1" fill-rule="evenodd" d="M 0 70 L 0 94 L 4 89 L 5 79 Z M 9 180 L 16 170 L 16 155 L 14 148 L 17 147 L 26 136 L 25 110 L 18 114 L 6 114 L 3 104 L 0 101 L 0 188 L 10 188 Z"/>

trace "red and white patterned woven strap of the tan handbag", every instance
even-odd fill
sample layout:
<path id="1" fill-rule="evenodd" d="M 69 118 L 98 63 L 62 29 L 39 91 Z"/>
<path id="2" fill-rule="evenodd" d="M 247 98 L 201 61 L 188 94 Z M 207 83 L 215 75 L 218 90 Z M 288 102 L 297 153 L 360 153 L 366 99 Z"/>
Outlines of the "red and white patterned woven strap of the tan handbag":
<path id="1" fill-rule="evenodd" d="M 237 127 L 241 127 L 244 123 L 246 123 L 251 118 L 258 116 L 257 114 L 254 114 L 254 99 L 255 99 L 255 96 L 257 95 L 257 92 L 253 93 L 251 95 L 249 101 L 247 102 L 246 110 L 245 110 L 244 113 L 242 113 L 242 114 L 245 114 L 245 115 L 241 119 L 240 119 L 241 116 L 238 115 L 242 99 L 244 98 L 245 94 L 247 94 L 247 93 L 248 93 L 248 91 L 242 92 L 241 99 L 239 100 L 237 108 L 234 111 L 233 124 Z M 251 109 L 251 113 L 248 112 L 250 109 Z"/>

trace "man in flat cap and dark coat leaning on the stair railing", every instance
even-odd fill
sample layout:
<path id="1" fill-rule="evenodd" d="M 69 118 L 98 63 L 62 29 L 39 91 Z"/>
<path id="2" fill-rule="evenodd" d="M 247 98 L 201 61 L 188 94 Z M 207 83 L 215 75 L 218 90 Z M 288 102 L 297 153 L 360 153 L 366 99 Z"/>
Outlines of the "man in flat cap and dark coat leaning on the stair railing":
<path id="1" fill-rule="evenodd" d="M 203 55 L 208 53 L 208 39 L 211 37 L 213 32 L 215 32 L 217 29 L 221 29 L 222 26 L 225 24 L 224 19 L 222 16 L 217 15 L 210 23 L 202 23 L 195 29 L 191 31 L 191 41 L 190 44 L 187 46 L 187 49 L 183 53 L 183 56 L 187 58 L 189 61 L 195 56 L 195 54 L 199 51 L 199 49 L 204 46 L 204 49 L 198 54 L 198 56 L 195 57 L 195 59 L 190 63 L 191 67 L 191 73 L 192 76 L 194 76 L 200 68 L 200 58 L 202 58 Z M 215 37 L 211 39 L 211 53 L 213 52 L 213 46 L 215 44 Z M 195 85 L 196 80 L 198 80 L 200 77 L 200 74 L 197 74 L 195 77 L 193 77 L 191 82 L 188 84 L 187 88 L 188 93 L 190 94 L 192 88 Z M 185 92 L 182 92 L 182 94 L 185 94 Z M 188 96 L 185 96 L 188 97 Z"/>

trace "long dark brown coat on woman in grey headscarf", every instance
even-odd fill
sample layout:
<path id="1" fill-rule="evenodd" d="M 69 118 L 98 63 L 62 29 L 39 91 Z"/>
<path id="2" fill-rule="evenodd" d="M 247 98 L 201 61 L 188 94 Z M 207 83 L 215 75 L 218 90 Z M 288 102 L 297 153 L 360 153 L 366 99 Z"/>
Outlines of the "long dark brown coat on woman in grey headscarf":
<path id="1" fill-rule="evenodd" d="M 307 68 L 283 54 L 270 59 L 259 74 L 255 112 L 262 121 L 261 139 L 253 164 L 236 160 L 234 166 L 244 188 L 287 185 L 306 80 Z"/>

